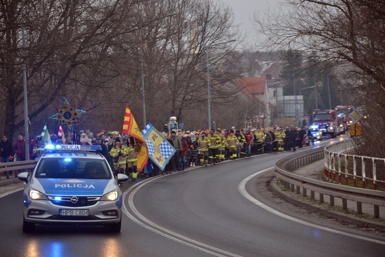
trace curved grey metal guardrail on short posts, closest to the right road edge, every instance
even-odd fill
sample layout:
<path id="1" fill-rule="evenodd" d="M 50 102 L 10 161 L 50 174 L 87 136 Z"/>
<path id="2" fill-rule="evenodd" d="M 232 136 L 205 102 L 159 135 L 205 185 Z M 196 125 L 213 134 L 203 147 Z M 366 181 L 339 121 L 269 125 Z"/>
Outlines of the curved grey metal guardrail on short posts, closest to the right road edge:
<path id="1" fill-rule="evenodd" d="M 339 147 L 339 146 L 336 146 Z M 342 150 L 341 150 L 342 151 Z M 363 188 L 336 185 L 330 182 L 319 181 L 293 174 L 292 171 L 307 164 L 321 160 L 325 157 L 323 148 L 313 149 L 297 153 L 279 160 L 275 164 L 277 176 L 287 189 L 300 194 L 302 188 L 303 197 L 310 190 L 311 199 L 315 199 L 315 192 L 319 193 L 319 199 L 323 203 L 324 195 L 330 196 L 330 205 L 334 206 L 334 198 L 342 199 L 342 208 L 348 209 L 348 200 L 356 201 L 357 213 L 362 213 L 362 203 L 374 206 L 374 216 L 379 218 L 379 206 L 385 207 L 385 192 Z"/>

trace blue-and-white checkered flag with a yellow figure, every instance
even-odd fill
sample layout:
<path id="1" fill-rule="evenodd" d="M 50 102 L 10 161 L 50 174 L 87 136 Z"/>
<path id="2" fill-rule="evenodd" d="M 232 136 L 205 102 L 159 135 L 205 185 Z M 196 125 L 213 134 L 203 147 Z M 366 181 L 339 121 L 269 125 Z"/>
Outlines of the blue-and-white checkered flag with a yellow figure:
<path id="1" fill-rule="evenodd" d="M 175 148 L 150 122 L 148 122 L 142 134 L 146 140 L 148 156 L 163 171 L 168 161 L 175 154 Z"/>

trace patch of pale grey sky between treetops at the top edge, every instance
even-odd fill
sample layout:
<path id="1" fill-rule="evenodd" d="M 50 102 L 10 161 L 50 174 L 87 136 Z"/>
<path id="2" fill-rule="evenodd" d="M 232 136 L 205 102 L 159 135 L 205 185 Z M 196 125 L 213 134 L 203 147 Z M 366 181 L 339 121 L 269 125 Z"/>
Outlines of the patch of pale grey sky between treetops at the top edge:
<path id="1" fill-rule="evenodd" d="M 217 0 L 231 7 L 234 11 L 235 23 L 241 24 L 240 29 L 243 33 L 248 33 L 246 41 L 249 44 L 255 43 L 257 38 L 256 31 L 253 27 L 251 19 L 254 12 L 261 12 L 270 9 L 271 11 L 277 6 L 280 0 Z"/>

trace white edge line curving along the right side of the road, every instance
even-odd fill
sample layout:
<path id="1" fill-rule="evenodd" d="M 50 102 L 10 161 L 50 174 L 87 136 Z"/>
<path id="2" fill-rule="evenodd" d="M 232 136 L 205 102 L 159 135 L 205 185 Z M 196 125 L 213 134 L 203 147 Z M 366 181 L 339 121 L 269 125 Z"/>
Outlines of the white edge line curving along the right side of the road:
<path id="1" fill-rule="evenodd" d="M 243 179 L 239 183 L 238 191 L 247 200 L 251 201 L 253 204 L 260 206 L 261 208 L 265 209 L 266 211 L 268 211 L 270 213 L 273 213 L 273 214 L 275 214 L 277 216 L 280 216 L 282 218 L 288 219 L 289 221 L 296 222 L 296 223 L 299 223 L 299 224 L 302 224 L 302 225 L 305 225 L 305 226 L 309 226 L 309 227 L 312 227 L 312 228 L 317 228 L 317 229 L 321 229 L 321 230 L 324 230 L 324 231 L 332 232 L 332 233 L 335 233 L 335 234 L 349 236 L 349 237 L 353 237 L 353 238 L 356 238 L 356 239 L 360 239 L 360 240 L 364 240 L 364 241 L 368 241 L 368 242 L 372 242 L 372 243 L 377 243 L 377 244 L 381 244 L 381 245 L 385 245 L 385 242 L 383 242 L 383 241 L 375 240 L 375 239 L 364 237 L 364 236 L 360 236 L 360 235 L 354 235 L 354 234 L 338 231 L 338 230 L 335 230 L 335 229 L 318 226 L 318 225 L 315 225 L 315 224 L 312 224 L 312 223 L 309 223 L 309 222 L 301 221 L 298 218 L 291 217 L 291 216 L 283 214 L 282 212 L 279 212 L 279 211 L 277 211 L 277 210 L 275 210 L 275 209 L 273 209 L 271 207 L 268 207 L 267 205 L 261 203 L 260 201 L 255 199 L 253 196 L 251 196 L 249 193 L 247 193 L 246 188 L 245 188 L 247 181 L 249 181 L 253 177 L 258 176 L 258 175 L 260 175 L 260 174 L 262 174 L 262 173 L 264 173 L 264 172 L 266 172 L 268 170 L 271 170 L 273 168 L 274 167 L 271 167 L 271 168 L 265 169 L 263 171 L 259 171 L 259 172 L 255 173 L 255 174 L 252 174 L 252 175 L 246 177 L 245 179 Z"/>

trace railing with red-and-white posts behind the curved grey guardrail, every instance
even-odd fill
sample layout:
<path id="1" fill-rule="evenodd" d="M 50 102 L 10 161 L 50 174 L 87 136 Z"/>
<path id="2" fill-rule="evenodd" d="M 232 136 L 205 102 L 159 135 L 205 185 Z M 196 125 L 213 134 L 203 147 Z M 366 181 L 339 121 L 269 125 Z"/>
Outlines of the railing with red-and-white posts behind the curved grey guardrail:
<path id="1" fill-rule="evenodd" d="M 357 178 L 362 181 L 362 188 L 366 188 L 367 180 L 373 181 L 373 190 L 377 189 L 377 183 L 385 181 L 377 179 L 377 166 L 385 168 L 385 159 L 359 156 L 354 154 L 356 141 L 353 139 L 334 143 L 325 147 L 325 176 L 329 180 L 341 184 L 342 175 L 345 175 L 345 185 L 349 185 L 349 176 L 353 177 L 354 187 L 357 186 Z M 342 171 L 344 166 L 344 171 Z M 360 166 L 357 168 L 357 166 Z"/>

